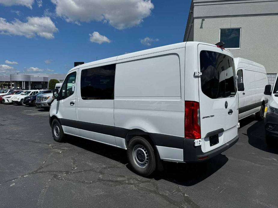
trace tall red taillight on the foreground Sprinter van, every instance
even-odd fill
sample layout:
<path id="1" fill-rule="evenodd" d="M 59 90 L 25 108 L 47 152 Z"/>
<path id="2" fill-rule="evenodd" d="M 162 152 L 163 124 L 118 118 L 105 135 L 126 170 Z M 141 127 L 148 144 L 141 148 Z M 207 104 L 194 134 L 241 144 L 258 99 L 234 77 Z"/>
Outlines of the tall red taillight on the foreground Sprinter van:
<path id="1" fill-rule="evenodd" d="M 195 101 L 185 101 L 184 137 L 200 139 L 200 105 Z"/>

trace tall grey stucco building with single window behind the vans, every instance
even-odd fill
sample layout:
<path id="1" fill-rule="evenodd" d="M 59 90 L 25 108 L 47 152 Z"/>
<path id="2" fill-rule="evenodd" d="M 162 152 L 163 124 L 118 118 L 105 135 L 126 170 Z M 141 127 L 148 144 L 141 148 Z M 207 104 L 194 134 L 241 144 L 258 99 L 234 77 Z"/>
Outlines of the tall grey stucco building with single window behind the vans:
<path id="1" fill-rule="evenodd" d="M 234 57 L 264 65 L 268 82 L 278 73 L 278 0 L 192 0 L 183 41 L 223 41 Z"/>

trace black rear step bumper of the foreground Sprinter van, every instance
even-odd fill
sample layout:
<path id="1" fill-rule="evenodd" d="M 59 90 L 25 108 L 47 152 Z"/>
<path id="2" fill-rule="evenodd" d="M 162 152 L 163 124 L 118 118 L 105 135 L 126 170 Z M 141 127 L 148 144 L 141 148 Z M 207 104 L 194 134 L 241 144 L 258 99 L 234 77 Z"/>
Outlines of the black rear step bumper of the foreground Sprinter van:
<path id="1" fill-rule="evenodd" d="M 225 150 L 228 150 L 233 146 L 239 139 L 239 129 L 237 129 L 237 136 L 231 141 L 223 144 L 221 147 L 218 147 L 209 152 L 203 153 L 201 146 L 194 146 L 194 139 L 184 139 L 183 142 L 183 161 L 184 162 L 202 162 L 212 157 L 221 154 Z M 201 159 L 199 159 L 201 158 Z"/>

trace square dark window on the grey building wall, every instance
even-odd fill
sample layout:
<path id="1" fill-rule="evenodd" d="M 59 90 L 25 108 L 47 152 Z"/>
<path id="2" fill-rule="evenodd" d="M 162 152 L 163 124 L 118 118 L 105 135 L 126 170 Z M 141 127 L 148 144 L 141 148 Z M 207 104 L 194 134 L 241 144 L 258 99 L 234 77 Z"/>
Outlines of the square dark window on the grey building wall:
<path id="1" fill-rule="evenodd" d="M 241 28 L 220 29 L 220 41 L 225 43 L 227 49 L 240 49 Z"/>

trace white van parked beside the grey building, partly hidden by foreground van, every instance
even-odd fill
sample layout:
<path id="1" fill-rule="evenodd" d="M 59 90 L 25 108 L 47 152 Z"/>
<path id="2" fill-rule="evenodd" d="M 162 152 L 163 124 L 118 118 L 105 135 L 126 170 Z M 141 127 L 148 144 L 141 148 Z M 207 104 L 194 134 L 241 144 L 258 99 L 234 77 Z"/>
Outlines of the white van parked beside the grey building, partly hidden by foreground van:
<path id="1" fill-rule="evenodd" d="M 255 113 L 258 120 L 264 119 L 268 99 L 264 95 L 267 75 L 263 65 L 244 58 L 234 58 L 239 94 L 239 120 Z"/>

